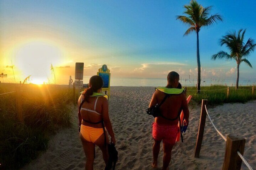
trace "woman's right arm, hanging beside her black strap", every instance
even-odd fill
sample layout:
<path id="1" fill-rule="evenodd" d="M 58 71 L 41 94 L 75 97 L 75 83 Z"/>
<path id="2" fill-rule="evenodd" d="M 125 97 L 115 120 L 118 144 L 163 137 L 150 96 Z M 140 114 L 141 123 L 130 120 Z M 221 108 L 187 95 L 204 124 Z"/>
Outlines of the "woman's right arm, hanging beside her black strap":
<path id="1" fill-rule="evenodd" d="M 106 129 L 107 129 L 107 132 L 111 137 L 111 142 L 116 144 L 115 134 L 112 129 L 112 124 L 110 122 L 109 115 L 108 115 L 108 102 L 105 97 L 104 97 L 104 101 L 102 104 L 102 117 L 103 117 L 104 125 L 106 126 Z"/>

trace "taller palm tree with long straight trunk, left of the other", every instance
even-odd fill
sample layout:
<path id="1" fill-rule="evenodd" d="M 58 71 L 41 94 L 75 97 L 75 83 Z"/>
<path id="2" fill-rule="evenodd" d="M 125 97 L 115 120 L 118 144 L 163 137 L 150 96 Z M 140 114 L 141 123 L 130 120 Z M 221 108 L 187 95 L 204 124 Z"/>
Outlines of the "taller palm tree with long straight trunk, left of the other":
<path id="1" fill-rule="evenodd" d="M 198 33 L 201 27 L 209 27 L 218 21 L 223 21 L 222 16 L 219 14 L 210 15 L 213 6 L 208 6 L 204 8 L 202 5 L 198 4 L 197 1 L 190 1 L 189 5 L 184 5 L 185 11 L 183 14 L 186 16 L 178 15 L 176 20 L 181 20 L 184 25 L 189 26 L 184 36 L 192 32 L 197 33 L 197 93 L 200 93 L 200 83 L 201 83 L 201 63 L 199 54 L 199 36 Z"/>

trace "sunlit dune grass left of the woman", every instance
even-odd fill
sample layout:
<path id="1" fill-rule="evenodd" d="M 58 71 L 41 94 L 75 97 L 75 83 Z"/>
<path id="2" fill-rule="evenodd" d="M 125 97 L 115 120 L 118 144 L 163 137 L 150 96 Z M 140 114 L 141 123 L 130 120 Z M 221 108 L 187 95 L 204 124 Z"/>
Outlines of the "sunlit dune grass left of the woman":
<path id="1" fill-rule="evenodd" d="M 15 85 L 0 85 L 0 94 L 14 90 Z M 24 123 L 17 119 L 15 93 L 0 96 L 0 169 L 21 168 L 46 150 L 57 129 L 71 125 L 72 90 L 67 86 L 21 85 L 21 90 Z"/>

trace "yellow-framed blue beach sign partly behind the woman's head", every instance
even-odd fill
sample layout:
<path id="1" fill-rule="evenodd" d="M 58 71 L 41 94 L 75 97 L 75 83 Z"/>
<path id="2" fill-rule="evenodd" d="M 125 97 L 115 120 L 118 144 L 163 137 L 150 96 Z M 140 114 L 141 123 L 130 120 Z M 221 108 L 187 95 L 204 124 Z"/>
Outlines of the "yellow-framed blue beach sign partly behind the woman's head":
<path id="1" fill-rule="evenodd" d="M 97 72 L 98 76 L 101 76 L 103 80 L 103 87 L 101 88 L 102 91 L 105 91 L 105 94 L 110 96 L 110 70 L 107 68 L 107 65 L 104 64 L 99 71 Z"/>

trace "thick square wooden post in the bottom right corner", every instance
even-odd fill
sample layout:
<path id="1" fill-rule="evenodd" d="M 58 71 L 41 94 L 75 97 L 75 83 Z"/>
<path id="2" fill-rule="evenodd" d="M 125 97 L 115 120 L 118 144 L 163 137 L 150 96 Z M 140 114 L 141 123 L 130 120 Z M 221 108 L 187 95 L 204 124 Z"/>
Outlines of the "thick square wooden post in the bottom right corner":
<path id="1" fill-rule="evenodd" d="M 245 138 L 229 134 L 226 141 L 226 151 L 222 170 L 241 169 L 242 159 L 237 154 L 237 151 L 244 155 L 244 149 Z"/>

